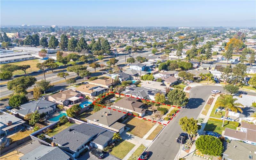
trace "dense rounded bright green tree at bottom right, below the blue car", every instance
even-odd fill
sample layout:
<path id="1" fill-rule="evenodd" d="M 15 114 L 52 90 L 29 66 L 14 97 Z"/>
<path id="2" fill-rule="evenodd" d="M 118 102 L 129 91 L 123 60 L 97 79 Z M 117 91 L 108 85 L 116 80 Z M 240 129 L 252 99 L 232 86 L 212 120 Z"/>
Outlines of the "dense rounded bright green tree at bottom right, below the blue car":
<path id="1" fill-rule="evenodd" d="M 221 156 L 224 147 L 219 138 L 201 135 L 196 140 L 196 149 L 206 155 Z"/>

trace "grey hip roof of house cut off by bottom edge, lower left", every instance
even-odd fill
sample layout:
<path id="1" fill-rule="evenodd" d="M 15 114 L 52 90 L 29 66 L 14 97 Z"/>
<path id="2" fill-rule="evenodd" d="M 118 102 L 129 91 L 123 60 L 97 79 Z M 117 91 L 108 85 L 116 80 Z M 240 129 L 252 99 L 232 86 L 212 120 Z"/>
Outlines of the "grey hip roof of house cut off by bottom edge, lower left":
<path id="1" fill-rule="evenodd" d="M 27 154 L 21 156 L 20 160 L 69 160 L 69 156 L 59 147 L 40 145 Z"/>

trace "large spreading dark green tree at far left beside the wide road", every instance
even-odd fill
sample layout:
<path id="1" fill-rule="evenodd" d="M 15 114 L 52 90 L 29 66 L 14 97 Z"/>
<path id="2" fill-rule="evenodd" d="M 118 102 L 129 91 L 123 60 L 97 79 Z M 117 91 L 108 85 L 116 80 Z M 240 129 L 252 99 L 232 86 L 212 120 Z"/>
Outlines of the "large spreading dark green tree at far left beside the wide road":
<path id="1" fill-rule="evenodd" d="M 18 77 L 18 78 L 15 78 L 14 80 L 10 81 L 7 83 L 7 89 L 8 90 L 11 90 L 11 91 L 14 91 L 14 92 L 24 92 L 28 89 L 28 87 L 31 87 L 33 84 L 36 83 L 36 78 L 33 77 L 33 76 L 21 76 L 21 77 Z M 18 88 L 17 87 L 20 87 L 19 89 L 23 89 L 22 91 L 17 91 Z"/>

